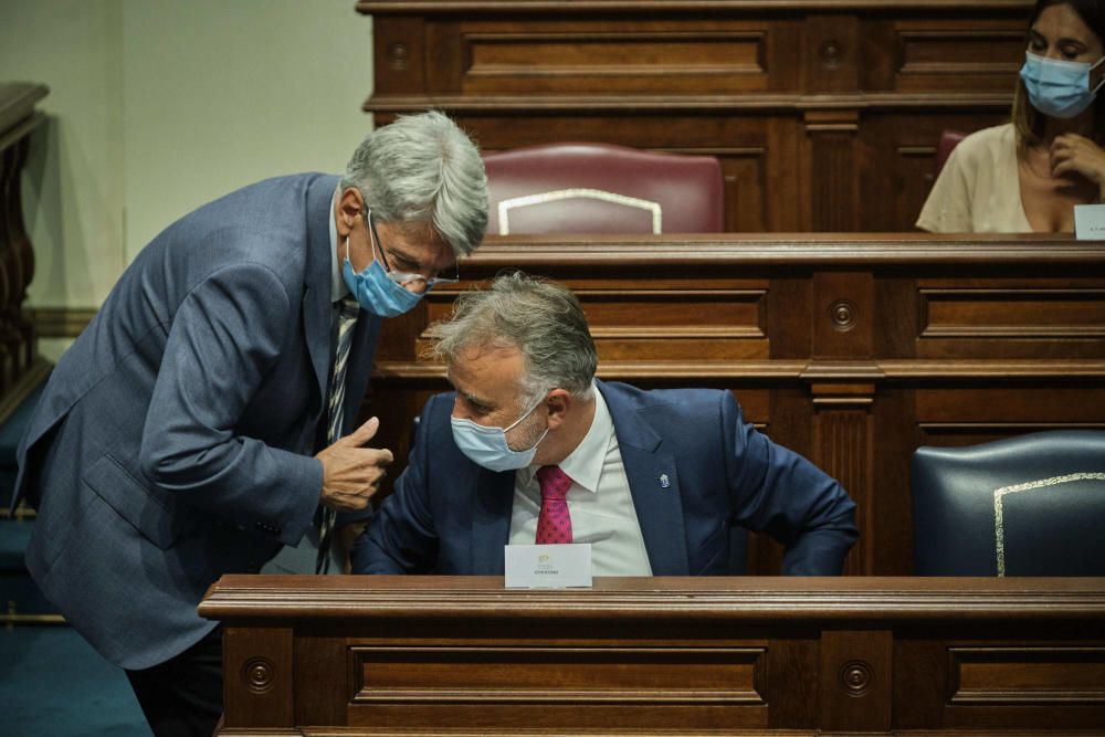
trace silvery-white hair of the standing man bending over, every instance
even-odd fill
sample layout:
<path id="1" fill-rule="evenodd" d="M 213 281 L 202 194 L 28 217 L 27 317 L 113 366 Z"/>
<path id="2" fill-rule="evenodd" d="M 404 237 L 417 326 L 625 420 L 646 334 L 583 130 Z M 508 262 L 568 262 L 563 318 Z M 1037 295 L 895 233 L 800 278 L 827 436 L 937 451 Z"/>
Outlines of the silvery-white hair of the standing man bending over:
<path id="1" fill-rule="evenodd" d="M 427 223 L 456 256 L 487 230 L 487 175 L 480 149 L 438 110 L 401 115 L 368 134 L 341 188 L 356 187 L 385 222 Z"/>

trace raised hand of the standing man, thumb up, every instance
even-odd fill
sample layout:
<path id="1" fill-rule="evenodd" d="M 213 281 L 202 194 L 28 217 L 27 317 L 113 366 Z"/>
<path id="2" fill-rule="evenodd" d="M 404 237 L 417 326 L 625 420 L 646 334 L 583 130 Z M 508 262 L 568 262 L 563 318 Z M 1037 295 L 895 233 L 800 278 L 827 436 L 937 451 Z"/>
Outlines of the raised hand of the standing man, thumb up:
<path id="1" fill-rule="evenodd" d="M 380 427 L 377 418 L 357 428 L 315 457 L 323 462 L 319 503 L 337 512 L 356 512 L 380 488 L 393 456 L 386 448 L 364 448 Z"/>

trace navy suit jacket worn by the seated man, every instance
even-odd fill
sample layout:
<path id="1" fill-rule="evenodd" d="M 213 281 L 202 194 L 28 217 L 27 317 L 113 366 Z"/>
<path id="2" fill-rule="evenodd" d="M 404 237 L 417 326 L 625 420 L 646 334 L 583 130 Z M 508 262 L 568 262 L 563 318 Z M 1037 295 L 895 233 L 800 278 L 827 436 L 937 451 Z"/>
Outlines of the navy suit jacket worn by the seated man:
<path id="1" fill-rule="evenodd" d="M 610 409 L 655 576 L 729 570 L 729 526 L 783 543 L 783 572 L 835 575 L 855 541 L 840 484 L 741 419 L 728 391 L 597 382 Z M 502 575 L 514 472 L 453 442 L 453 394 L 430 399 L 407 470 L 354 549 L 354 572 Z M 666 474 L 670 485 L 660 478 Z"/>

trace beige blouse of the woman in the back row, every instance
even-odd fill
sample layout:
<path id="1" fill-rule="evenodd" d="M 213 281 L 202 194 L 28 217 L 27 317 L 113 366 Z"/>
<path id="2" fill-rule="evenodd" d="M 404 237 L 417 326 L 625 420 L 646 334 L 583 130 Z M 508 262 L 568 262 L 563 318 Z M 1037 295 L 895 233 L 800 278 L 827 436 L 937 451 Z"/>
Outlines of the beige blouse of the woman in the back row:
<path id="1" fill-rule="evenodd" d="M 1031 233 L 1021 203 L 1013 125 L 972 133 L 953 149 L 917 228 L 933 233 Z"/>

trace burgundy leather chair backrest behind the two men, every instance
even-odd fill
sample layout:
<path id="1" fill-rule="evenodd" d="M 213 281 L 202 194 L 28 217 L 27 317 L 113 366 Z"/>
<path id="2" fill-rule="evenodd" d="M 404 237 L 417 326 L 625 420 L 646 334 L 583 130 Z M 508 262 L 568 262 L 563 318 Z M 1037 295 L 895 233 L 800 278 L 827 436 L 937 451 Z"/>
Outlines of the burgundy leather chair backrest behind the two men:
<path id="1" fill-rule="evenodd" d="M 559 143 L 484 154 L 487 232 L 716 233 L 725 228 L 713 156 Z"/>

